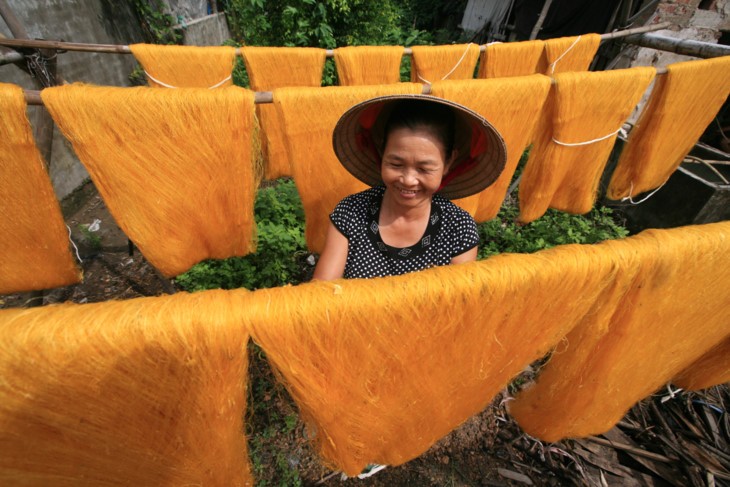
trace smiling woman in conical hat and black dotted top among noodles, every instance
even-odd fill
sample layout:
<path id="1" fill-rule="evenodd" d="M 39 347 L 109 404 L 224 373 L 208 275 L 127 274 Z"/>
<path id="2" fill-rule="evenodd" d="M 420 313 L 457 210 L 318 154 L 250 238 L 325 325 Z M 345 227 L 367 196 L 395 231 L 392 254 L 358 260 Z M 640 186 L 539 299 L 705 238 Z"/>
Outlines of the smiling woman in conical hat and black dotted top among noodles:
<path id="1" fill-rule="evenodd" d="M 314 279 L 476 260 L 476 223 L 448 198 L 480 192 L 504 168 L 504 141 L 484 118 L 431 96 L 379 97 L 342 116 L 333 144 L 342 165 L 372 188 L 330 215 Z"/>

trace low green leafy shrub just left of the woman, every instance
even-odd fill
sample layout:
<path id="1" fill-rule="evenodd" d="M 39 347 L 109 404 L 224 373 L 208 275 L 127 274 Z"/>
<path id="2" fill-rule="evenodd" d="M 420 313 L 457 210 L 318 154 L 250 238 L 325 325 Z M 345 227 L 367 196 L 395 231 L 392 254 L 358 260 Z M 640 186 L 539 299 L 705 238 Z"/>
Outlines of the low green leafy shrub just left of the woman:
<path id="1" fill-rule="evenodd" d="M 304 210 L 292 180 L 260 189 L 254 207 L 258 250 L 245 257 L 206 260 L 175 279 L 186 291 L 261 289 L 297 284 L 304 275 Z"/>

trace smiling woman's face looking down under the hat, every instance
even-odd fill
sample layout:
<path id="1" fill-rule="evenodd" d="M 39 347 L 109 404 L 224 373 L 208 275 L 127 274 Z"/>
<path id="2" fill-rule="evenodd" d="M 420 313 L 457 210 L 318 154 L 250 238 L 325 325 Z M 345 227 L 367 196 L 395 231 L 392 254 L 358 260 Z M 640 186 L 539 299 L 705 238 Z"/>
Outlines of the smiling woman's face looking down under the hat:
<path id="1" fill-rule="evenodd" d="M 443 144 L 428 128 L 396 128 L 388 134 L 380 175 L 397 204 L 430 205 L 452 162 L 453 155 L 447 158 Z"/>

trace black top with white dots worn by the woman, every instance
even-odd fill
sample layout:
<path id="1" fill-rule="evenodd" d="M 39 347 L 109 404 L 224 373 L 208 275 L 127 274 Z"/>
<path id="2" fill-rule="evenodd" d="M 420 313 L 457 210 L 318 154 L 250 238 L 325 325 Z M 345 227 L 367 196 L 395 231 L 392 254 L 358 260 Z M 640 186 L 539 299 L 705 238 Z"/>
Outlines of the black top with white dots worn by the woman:
<path id="1" fill-rule="evenodd" d="M 469 213 L 435 194 L 421 241 L 402 249 L 387 245 L 378 227 L 384 194 L 385 187 L 377 186 L 350 195 L 330 215 L 335 228 L 348 240 L 345 278 L 397 276 L 448 265 L 453 257 L 479 243 L 476 222 Z"/>

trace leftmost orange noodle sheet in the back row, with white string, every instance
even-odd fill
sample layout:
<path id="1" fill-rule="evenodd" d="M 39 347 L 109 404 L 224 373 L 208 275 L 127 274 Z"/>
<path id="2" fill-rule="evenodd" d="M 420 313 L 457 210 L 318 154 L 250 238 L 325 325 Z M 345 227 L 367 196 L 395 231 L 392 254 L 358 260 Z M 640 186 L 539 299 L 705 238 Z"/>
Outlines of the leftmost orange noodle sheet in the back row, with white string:
<path id="1" fill-rule="evenodd" d="M 132 44 L 147 82 L 158 88 L 218 88 L 231 86 L 236 49 L 230 46 L 163 46 Z"/>

